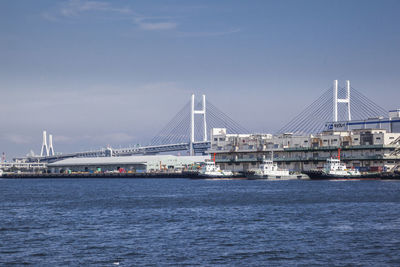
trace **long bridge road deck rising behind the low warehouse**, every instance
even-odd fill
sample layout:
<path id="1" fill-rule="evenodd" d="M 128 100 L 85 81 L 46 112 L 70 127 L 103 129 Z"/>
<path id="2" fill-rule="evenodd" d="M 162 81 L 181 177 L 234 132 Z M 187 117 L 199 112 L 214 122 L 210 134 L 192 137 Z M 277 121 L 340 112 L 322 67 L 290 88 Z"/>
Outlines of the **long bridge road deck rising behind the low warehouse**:
<path id="1" fill-rule="evenodd" d="M 194 142 L 193 148 L 195 153 L 204 153 L 210 148 L 211 143 L 209 141 Z M 142 146 L 142 147 L 129 147 L 129 148 L 117 148 L 112 149 L 112 156 L 131 156 L 131 155 L 154 155 L 162 152 L 172 151 L 183 151 L 189 150 L 190 143 L 179 143 L 169 145 L 157 145 L 157 146 Z M 67 158 L 85 158 L 85 157 L 107 157 L 110 156 L 108 149 L 101 149 L 95 151 L 84 151 L 75 153 L 65 153 L 54 156 L 30 156 L 28 157 L 29 162 L 55 162 Z"/>

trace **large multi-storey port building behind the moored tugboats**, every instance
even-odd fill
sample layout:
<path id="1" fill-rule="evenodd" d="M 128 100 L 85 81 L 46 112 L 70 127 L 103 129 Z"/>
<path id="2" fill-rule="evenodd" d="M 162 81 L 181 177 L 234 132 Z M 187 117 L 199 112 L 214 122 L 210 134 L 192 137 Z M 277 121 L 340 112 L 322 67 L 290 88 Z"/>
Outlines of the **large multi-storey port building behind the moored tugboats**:
<path id="1" fill-rule="evenodd" d="M 281 168 L 305 171 L 322 168 L 338 156 L 362 171 L 391 171 L 400 167 L 400 110 L 388 118 L 332 122 L 321 133 L 229 134 L 211 131 L 210 154 L 221 169 L 247 171 L 273 156 Z"/>

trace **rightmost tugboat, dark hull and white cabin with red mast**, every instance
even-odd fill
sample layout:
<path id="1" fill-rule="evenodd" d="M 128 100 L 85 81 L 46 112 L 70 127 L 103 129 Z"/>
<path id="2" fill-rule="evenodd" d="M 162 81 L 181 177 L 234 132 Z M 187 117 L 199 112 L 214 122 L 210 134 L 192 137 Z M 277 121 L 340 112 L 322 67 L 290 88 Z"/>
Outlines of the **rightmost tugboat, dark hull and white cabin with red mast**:
<path id="1" fill-rule="evenodd" d="M 358 169 L 348 169 L 345 163 L 340 162 L 340 149 L 337 158 L 328 158 L 322 170 L 304 171 L 313 180 L 334 179 L 378 179 L 375 173 L 361 174 Z"/>

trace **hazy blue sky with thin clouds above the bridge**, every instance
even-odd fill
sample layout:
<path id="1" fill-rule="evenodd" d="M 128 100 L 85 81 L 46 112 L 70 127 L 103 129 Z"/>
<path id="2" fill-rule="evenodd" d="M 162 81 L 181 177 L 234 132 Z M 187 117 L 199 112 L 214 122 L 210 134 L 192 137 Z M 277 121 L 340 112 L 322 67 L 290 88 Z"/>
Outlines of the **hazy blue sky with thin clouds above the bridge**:
<path id="1" fill-rule="evenodd" d="M 400 1 L 0 1 L 0 152 L 146 144 L 206 94 L 274 132 L 345 80 L 400 108 Z"/>

